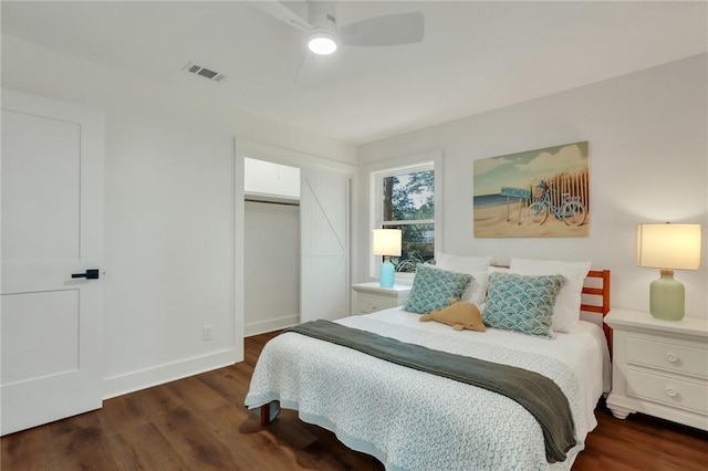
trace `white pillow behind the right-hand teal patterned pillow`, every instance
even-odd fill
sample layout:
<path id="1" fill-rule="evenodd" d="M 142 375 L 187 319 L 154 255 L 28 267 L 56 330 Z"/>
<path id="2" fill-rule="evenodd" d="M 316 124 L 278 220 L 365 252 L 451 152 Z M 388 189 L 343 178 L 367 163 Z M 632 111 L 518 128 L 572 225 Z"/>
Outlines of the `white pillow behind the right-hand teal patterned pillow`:
<path id="1" fill-rule="evenodd" d="M 527 275 L 561 274 L 568 283 L 561 289 L 553 306 L 553 331 L 568 332 L 577 325 L 581 293 L 592 262 L 561 262 L 553 260 L 511 259 L 510 270 Z"/>

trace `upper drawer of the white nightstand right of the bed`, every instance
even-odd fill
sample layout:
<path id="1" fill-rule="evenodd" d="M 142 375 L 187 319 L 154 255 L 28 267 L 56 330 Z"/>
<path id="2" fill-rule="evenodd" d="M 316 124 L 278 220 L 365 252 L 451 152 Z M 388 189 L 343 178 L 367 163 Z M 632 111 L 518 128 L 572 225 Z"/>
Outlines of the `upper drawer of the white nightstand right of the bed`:
<path id="1" fill-rule="evenodd" d="M 669 344 L 652 337 L 627 338 L 627 362 L 708 379 L 708 349 Z"/>

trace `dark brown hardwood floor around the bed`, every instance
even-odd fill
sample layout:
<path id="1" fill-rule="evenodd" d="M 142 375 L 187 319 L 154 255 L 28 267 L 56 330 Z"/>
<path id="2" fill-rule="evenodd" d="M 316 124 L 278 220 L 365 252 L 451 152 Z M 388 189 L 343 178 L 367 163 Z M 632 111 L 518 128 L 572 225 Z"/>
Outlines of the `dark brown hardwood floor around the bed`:
<path id="1" fill-rule="evenodd" d="M 273 334 L 246 339 L 246 360 L 106 400 L 101 410 L 3 437 L 10 470 L 382 470 L 373 458 L 296 412 L 263 428 L 243 408 L 256 359 Z M 598 427 L 573 467 L 594 470 L 708 469 L 708 433 L 645 416 Z"/>

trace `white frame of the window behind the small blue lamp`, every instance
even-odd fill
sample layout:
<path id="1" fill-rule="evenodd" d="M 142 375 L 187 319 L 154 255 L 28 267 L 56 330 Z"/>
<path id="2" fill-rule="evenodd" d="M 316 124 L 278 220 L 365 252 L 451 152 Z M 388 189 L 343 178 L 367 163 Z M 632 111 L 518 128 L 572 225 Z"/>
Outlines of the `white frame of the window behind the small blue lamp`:
<path id="1" fill-rule="evenodd" d="M 386 165 L 388 164 L 388 165 Z M 435 218 L 415 221 L 384 221 L 384 185 L 385 177 L 393 177 L 398 175 L 407 175 L 416 171 L 434 170 L 435 171 Z M 369 198 L 369 223 L 368 223 L 368 245 L 367 250 L 371 254 L 373 252 L 373 229 L 379 229 L 384 222 L 394 222 L 396 226 L 412 224 L 412 223 L 433 223 L 434 224 L 434 238 L 435 238 L 435 251 L 439 251 L 441 244 L 441 213 L 442 213 L 442 153 L 430 151 L 425 154 L 418 154 L 405 159 L 398 159 L 395 161 L 381 163 L 378 166 L 369 168 L 368 171 L 368 198 Z M 378 270 L 381 266 L 381 257 L 369 255 L 368 262 L 368 275 L 372 279 L 378 278 Z M 413 282 L 414 273 L 399 273 L 396 272 L 396 283 L 410 284 Z"/>

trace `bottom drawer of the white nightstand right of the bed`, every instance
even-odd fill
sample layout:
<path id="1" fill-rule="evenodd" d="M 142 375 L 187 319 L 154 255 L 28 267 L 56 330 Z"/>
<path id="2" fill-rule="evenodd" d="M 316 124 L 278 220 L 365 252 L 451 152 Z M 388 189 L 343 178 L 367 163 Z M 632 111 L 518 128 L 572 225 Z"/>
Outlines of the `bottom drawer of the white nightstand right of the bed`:
<path id="1" fill-rule="evenodd" d="M 708 414 L 708 387 L 667 376 L 627 370 L 627 395 Z"/>

